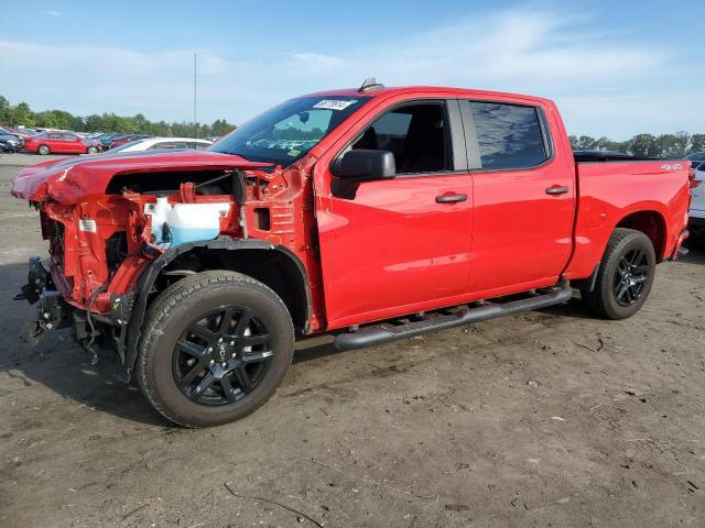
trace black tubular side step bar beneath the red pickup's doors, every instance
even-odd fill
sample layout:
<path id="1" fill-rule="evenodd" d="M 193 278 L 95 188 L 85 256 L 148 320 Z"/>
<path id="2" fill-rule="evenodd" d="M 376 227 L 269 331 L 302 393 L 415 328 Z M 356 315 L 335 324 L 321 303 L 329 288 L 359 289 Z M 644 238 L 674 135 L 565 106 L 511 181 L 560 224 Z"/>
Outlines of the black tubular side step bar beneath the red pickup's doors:
<path id="1" fill-rule="evenodd" d="M 334 344 L 337 350 L 355 350 L 366 346 L 389 343 L 398 339 L 413 338 L 426 332 L 445 330 L 446 328 L 460 327 L 470 322 L 487 321 L 496 317 L 510 316 L 520 311 L 538 310 L 549 306 L 567 302 L 573 297 L 573 288 L 568 283 L 556 286 L 547 294 L 536 295 L 527 299 L 511 300 L 494 305 L 487 304 L 470 308 L 460 315 L 438 316 L 421 321 L 413 321 L 398 326 L 370 327 L 359 332 L 339 333 Z"/>

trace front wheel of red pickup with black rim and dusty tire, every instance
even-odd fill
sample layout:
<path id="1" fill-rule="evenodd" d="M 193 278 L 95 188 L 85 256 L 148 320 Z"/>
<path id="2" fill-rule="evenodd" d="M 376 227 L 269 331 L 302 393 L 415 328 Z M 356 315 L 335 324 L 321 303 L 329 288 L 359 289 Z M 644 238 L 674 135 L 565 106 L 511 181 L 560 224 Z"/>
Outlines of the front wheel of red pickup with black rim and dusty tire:
<path id="1" fill-rule="evenodd" d="M 167 419 L 217 426 L 262 406 L 293 352 L 291 316 L 274 292 L 238 273 L 204 272 L 172 285 L 150 307 L 137 377 Z"/>

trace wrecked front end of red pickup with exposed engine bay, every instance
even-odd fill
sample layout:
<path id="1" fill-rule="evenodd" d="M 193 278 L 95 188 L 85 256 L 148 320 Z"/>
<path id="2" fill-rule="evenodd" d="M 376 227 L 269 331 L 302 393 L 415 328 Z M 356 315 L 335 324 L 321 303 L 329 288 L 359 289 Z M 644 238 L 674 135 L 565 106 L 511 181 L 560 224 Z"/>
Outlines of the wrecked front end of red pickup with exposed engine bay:
<path id="1" fill-rule="evenodd" d="M 22 170 L 12 194 L 40 211 L 50 243 L 46 266 L 31 258 L 28 284 L 15 296 L 37 304 L 31 337 L 72 327 L 91 362 L 99 348 L 113 349 L 129 377 L 141 324 L 132 317 L 134 306 L 143 314 L 148 296 L 158 293 L 153 278 L 141 280 L 144 272 L 166 252 L 177 254 L 204 240 L 254 235 L 299 251 L 305 243 L 295 240 L 291 221 L 312 165 L 307 157 L 281 169 L 188 151 L 50 162 Z M 276 224 L 279 218 L 288 221 L 285 228 Z"/>

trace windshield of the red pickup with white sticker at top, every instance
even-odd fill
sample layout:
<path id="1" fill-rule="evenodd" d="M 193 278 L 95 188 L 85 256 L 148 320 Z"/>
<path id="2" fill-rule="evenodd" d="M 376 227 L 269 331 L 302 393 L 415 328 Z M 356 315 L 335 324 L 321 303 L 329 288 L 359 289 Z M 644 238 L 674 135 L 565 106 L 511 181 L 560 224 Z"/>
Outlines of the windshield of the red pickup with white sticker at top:
<path id="1" fill-rule="evenodd" d="M 208 151 L 289 166 L 303 157 L 369 97 L 301 97 L 259 114 Z"/>

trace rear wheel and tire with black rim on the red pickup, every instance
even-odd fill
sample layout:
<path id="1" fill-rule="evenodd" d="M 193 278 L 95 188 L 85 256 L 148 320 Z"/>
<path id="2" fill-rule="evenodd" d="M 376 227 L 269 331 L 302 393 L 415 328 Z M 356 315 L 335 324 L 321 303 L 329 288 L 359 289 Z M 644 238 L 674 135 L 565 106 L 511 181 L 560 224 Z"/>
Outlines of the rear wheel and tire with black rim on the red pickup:
<path id="1" fill-rule="evenodd" d="M 615 229 L 599 264 L 595 288 L 581 292 L 583 302 L 606 319 L 633 316 L 649 297 L 655 264 L 649 237 L 632 229 Z"/>

